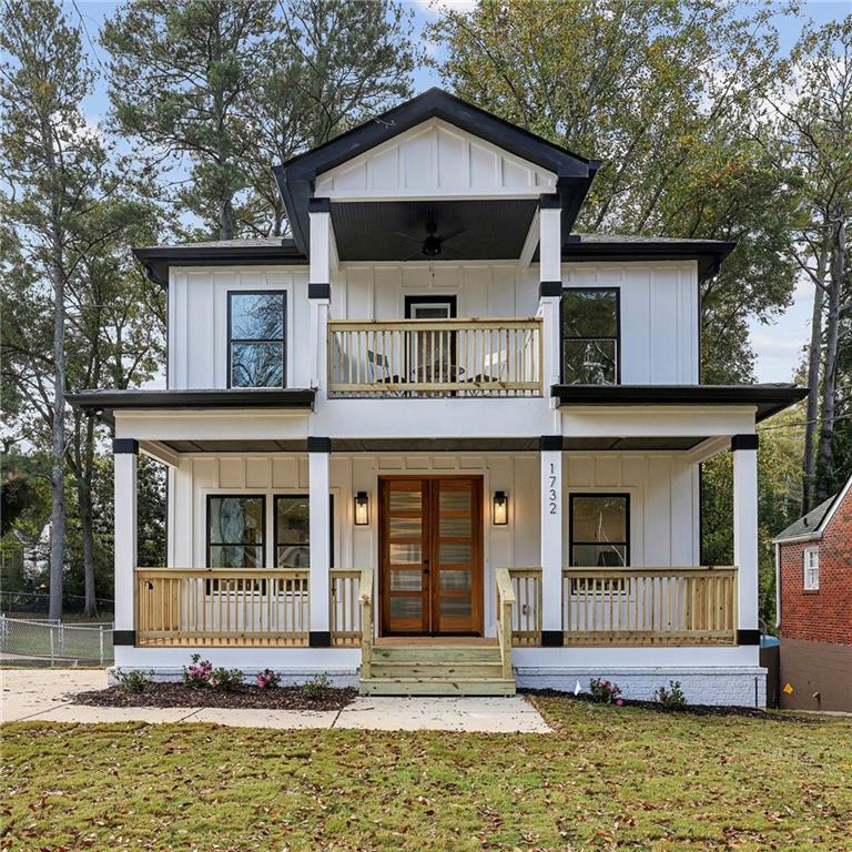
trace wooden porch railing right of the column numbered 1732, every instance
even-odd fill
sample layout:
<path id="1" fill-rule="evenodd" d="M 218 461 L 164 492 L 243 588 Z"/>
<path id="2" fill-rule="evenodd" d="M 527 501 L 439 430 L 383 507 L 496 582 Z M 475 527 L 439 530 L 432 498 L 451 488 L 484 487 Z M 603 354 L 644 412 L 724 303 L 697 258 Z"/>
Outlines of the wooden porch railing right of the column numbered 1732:
<path id="1" fill-rule="evenodd" d="M 736 645 L 737 569 L 566 568 L 565 645 Z"/>

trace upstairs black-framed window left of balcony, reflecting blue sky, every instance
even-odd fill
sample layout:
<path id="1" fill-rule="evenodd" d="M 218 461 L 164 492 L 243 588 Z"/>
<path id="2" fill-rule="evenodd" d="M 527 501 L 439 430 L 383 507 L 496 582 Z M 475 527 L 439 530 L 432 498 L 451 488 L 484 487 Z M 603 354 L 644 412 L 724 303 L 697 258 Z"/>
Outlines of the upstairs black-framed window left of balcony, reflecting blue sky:
<path id="1" fill-rule="evenodd" d="M 286 383 L 284 291 L 227 294 L 229 387 L 284 387 Z"/>

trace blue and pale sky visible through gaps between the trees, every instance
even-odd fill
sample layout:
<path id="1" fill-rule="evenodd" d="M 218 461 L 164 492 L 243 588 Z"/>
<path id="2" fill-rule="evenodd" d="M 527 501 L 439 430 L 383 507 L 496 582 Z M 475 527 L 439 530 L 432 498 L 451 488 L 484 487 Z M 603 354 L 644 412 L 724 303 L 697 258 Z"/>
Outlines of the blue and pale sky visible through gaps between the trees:
<path id="1" fill-rule="evenodd" d="M 637 0 L 640 2 L 641 0 Z M 436 19 L 437 10 L 442 7 L 469 8 L 469 0 L 413 0 L 405 3 L 410 7 L 414 16 L 415 31 L 423 36 L 425 50 L 440 58 L 440 50 L 432 44 L 425 37 L 425 28 Z M 103 50 L 98 47 L 98 30 L 104 18 L 110 17 L 116 2 L 77 2 L 68 3 L 69 17 L 80 14 L 88 39 L 87 49 L 95 64 L 105 61 Z M 779 9 L 781 7 L 778 3 Z M 852 0 L 819 0 L 814 2 L 800 2 L 800 16 L 778 14 L 774 24 L 778 28 L 781 50 L 788 51 L 799 37 L 802 22 L 812 19 L 818 26 L 831 20 L 839 20 L 852 13 Z M 429 87 L 439 85 L 440 80 L 432 68 L 420 68 L 415 73 L 415 91 L 422 92 Z M 87 119 L 90 124 L 97 124 L 106 113 L 108 101 L 103 85 L 90 95 L 83 104 Z M 594 152 L 586 152 L 594 156 Z M 754 365 L 758 382 L 791 382 L 793 375 L 803 359 L 803 347 L 807 344 L 810 332 L 810 317 L 813 306 L 812 286 L 802 280 L 797 284 L 792 304 L 773 316 L 769 323 L 760 323 L 753 320 L 750 323 L 752 349 L 757 359 Z"/>

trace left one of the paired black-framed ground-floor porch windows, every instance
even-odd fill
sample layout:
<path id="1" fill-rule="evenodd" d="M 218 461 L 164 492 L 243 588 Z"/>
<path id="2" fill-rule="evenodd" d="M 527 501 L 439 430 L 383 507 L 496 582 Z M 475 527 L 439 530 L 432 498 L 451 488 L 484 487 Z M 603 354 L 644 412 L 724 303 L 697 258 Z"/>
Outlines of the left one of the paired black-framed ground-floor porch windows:
<path id="1" fill-rule="evenodd" d="M 266 498 L 207 496 L 207 567 L 263 568 L 266 564 Z"/>

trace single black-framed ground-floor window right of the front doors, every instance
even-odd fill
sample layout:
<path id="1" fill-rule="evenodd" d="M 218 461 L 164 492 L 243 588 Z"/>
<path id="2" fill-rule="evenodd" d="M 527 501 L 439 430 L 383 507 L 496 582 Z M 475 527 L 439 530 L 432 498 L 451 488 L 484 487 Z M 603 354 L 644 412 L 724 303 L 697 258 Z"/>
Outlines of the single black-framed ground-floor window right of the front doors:
<path id="1" fill-rule="evenodd" d="M 630 495 L 572 494 L 569 507 L 572 567 L 630 565 Z"/>

